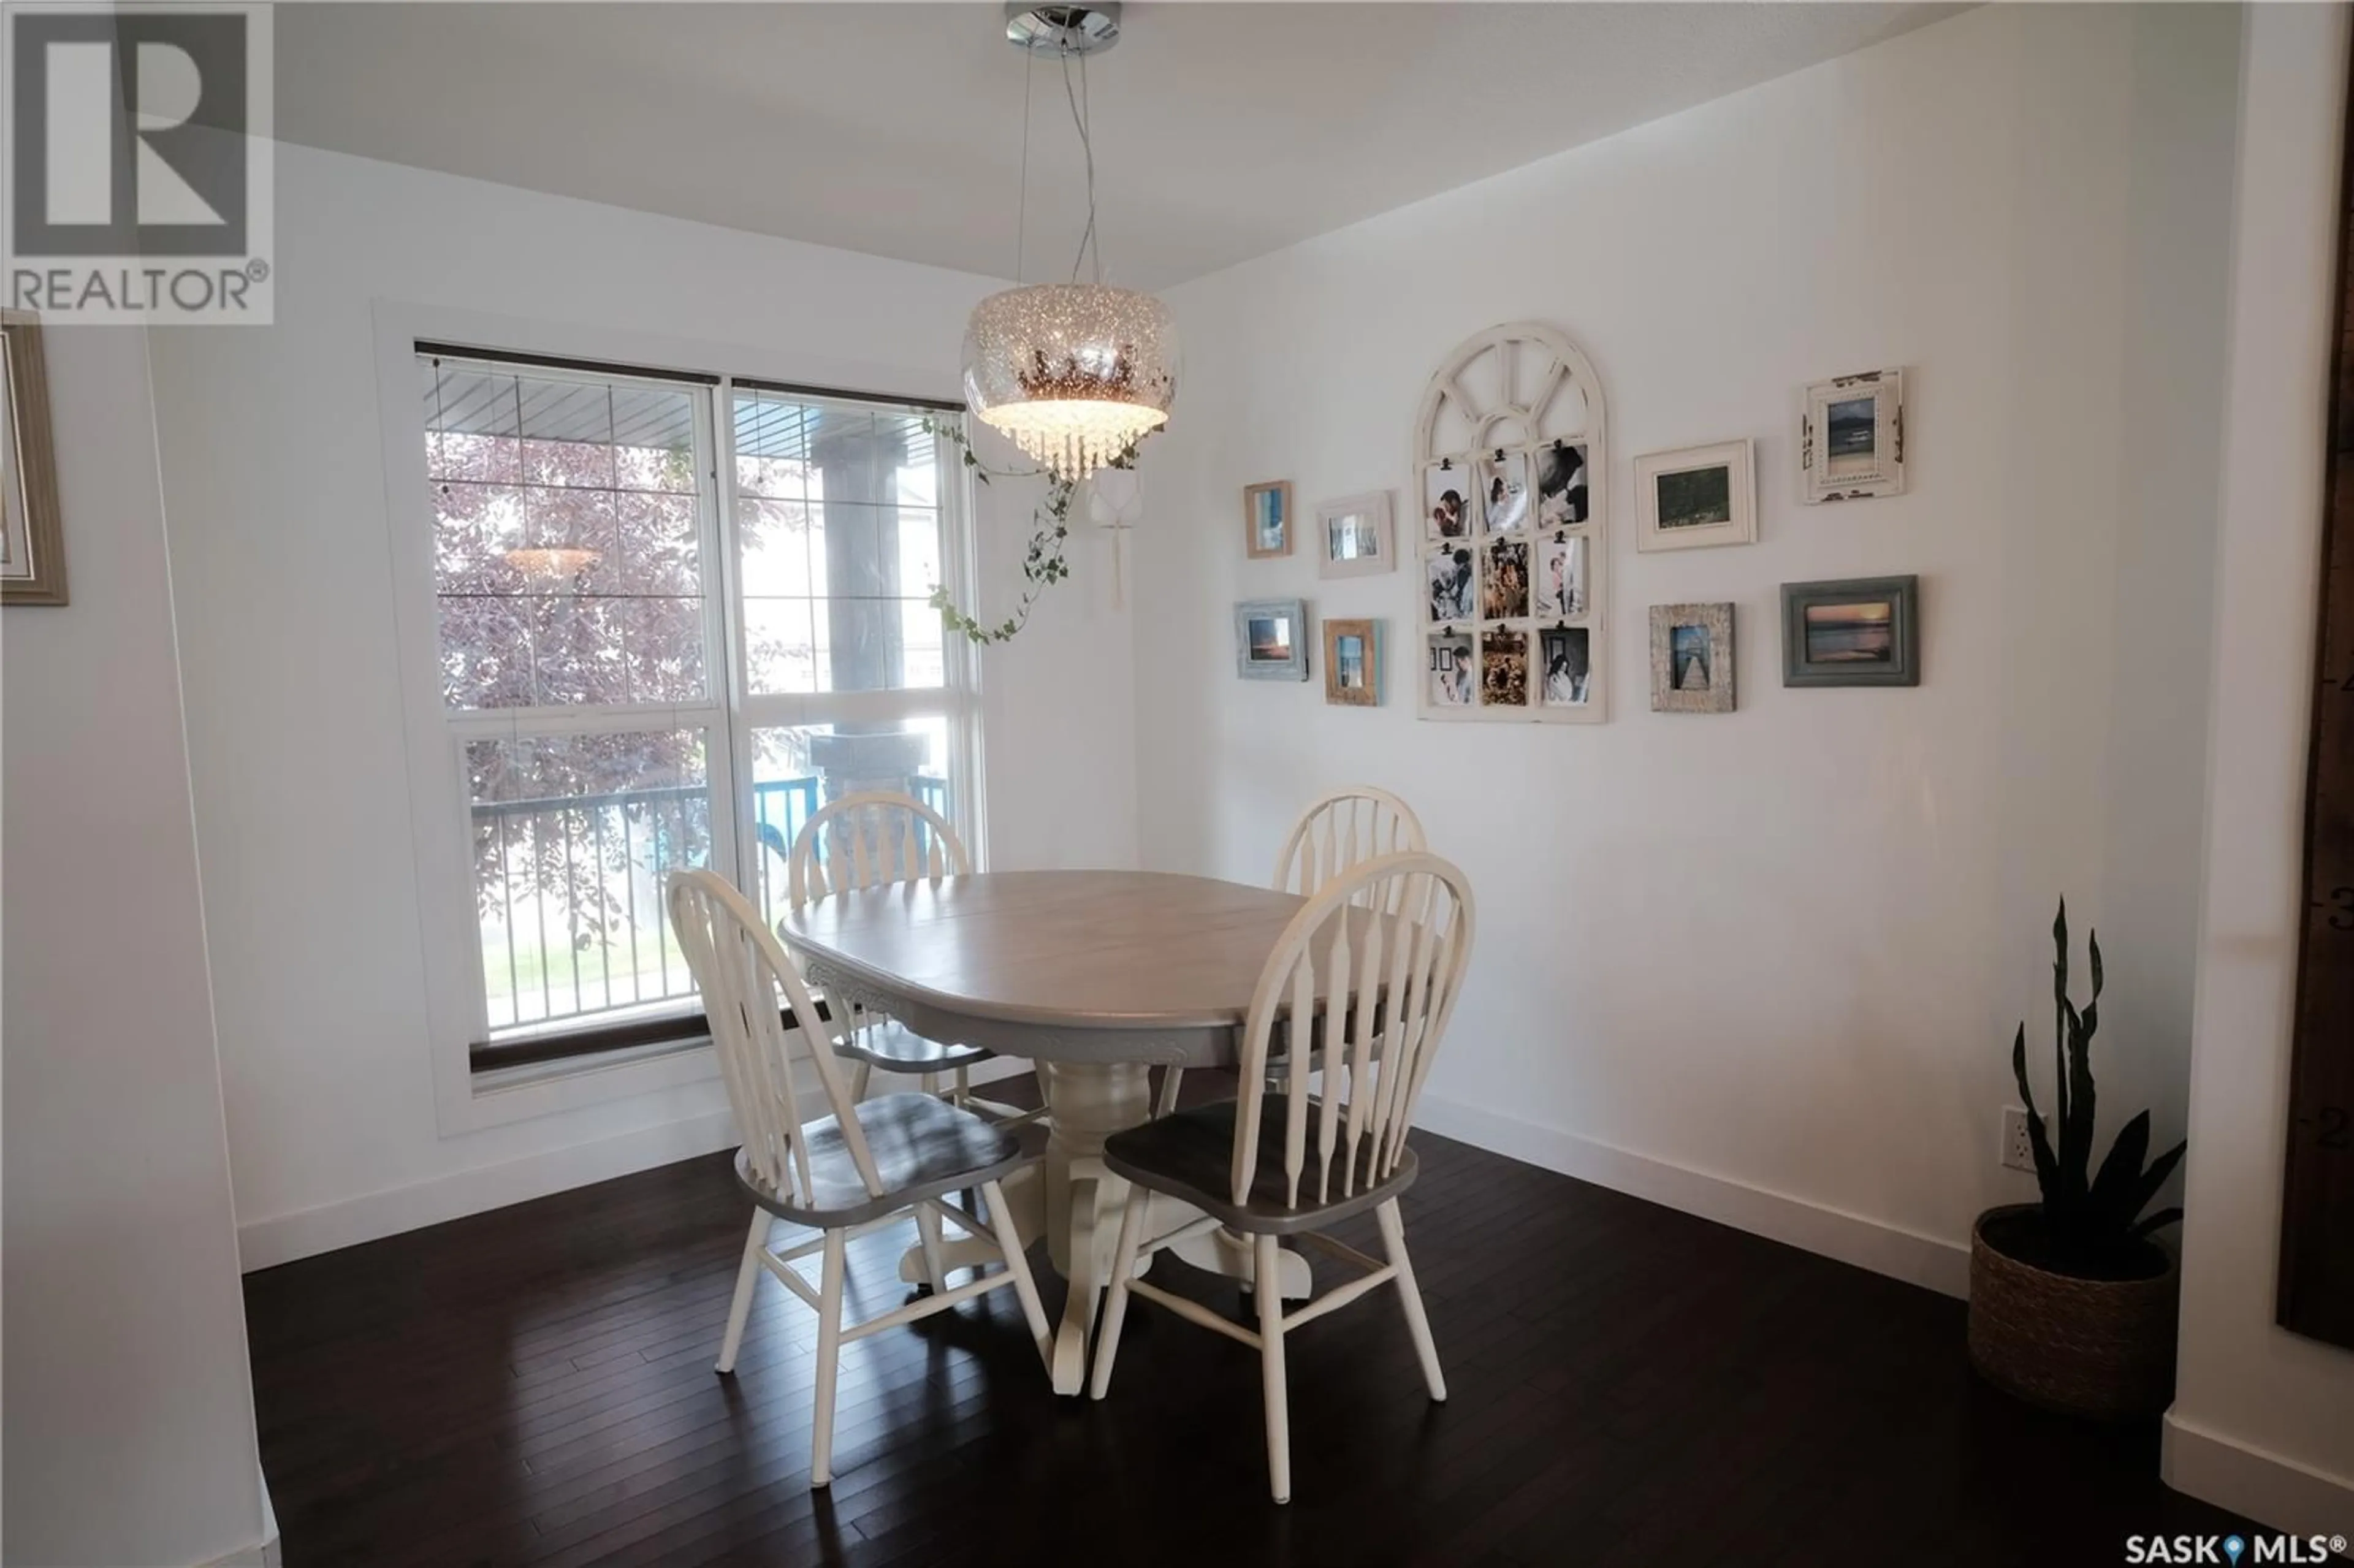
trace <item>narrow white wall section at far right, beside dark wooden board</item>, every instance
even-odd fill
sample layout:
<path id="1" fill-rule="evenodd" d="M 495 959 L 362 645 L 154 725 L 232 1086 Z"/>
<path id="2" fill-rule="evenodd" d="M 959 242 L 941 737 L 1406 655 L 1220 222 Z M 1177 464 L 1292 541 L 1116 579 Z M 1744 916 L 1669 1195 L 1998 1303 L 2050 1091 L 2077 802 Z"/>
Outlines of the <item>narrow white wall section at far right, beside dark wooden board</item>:
<path id="1" fill-rule="evenodd" d="M 2217 704 L 2166 1479 L 2290 1530 L 2354 1521 L 2354 1351 L 2272 1321 L 2305 928 L 2321 480 L 2335 334 L 2347 12 L 2246 19 L 2232 396 L 2215 556 Z"/>

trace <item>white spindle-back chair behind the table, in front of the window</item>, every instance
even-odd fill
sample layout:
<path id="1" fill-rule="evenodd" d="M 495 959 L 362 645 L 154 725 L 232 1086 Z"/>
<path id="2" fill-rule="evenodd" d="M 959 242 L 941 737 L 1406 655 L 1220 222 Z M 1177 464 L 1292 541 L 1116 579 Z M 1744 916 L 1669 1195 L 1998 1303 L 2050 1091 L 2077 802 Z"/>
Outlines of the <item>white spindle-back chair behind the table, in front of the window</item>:
<path id="1" fill-rule="evenodd" d="M 793 909 L 840 892 L 890 888 L 895 883 L 972 876 L 972 855 L 949 819 L 918 800 L 887 789 L 859 791 L 810 812 L 793 836 L 786 864 L 786 897 Z M 916 1074 L 925 1092 L 949 1076 L 946 1097 L 967 1111 L 993 1121 L 1026 1123 L 1038 1111 L 977 1099 L 970 1071 L 991 1050 L 979 1045 L 942 1045 L 887 1017 L 857 1012 L 843 1031 L 843 1055 L 857 1062 L 852 1097 L 866 1099 L 876 1069 Z"/>

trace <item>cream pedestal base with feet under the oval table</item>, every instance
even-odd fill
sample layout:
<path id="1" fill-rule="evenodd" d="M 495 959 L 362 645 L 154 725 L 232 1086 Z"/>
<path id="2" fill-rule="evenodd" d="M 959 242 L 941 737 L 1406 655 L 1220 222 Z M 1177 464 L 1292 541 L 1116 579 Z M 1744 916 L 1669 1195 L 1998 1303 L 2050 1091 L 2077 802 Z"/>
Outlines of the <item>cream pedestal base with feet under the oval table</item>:
<path id="1" fill-rule="evenodd" d="M 1111 1283 L 1111 1253 L 1121 1238 L 1121 1210 L 1128 1205 L 1128 1182 L 1104 1170 L 1104 1140 L 1151 1118 L 1151 1069 L 1142 1062 L 1040 1062 L 1038 1081 L 1052 1114 L 1045 1163 L 1005 1177 L 1005 1203 L 1024 1238 L 1045 1231 L 1055 1271 L 1071 1283 L 1071 1295 L 1055 1328 L 1055 1391 L 1076 1396 L 1088 1377 L 1088 1333 L 1095 1307 Z M 1146 1236 L 1165 1236 L 1201 1215 L 1191 1203 L 1153 1194 Z M 1177 1257 L 1255 1285 L 1250 1238 L 1233 1231 L 1210 1231 L 1170 1248 Z M 944 1269 L 975 1269 L 993 1253 L 960 1241 L 942 1248 Z M 1288 1297 L 1309 1295 L 1309 1264 L 1299 1253 L 1283 1255 L 1281 1290 Z M 925 1278 L 923 1248 L 909 1248 L 899 1260 L 899 1278 Z"/>

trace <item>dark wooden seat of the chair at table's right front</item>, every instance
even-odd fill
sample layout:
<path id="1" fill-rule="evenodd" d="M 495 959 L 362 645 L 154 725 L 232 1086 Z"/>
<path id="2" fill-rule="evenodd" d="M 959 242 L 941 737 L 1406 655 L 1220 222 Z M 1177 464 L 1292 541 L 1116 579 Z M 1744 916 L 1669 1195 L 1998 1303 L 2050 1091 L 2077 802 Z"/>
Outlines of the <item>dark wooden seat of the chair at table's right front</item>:
<path id="1" fill-rule="evenodd" d="M 1368 1184 L 1365 1170 L 1372 1165 L 1372 1140 L 1358 1147 L 1356 1191 L 1339 1196 L 1339 1168 L 1332 1170 L 1335 1196 L 1316 1201 L 1316 1114 L 1309 1107 L 1309 1163 L 1299 1172 L 1299 1208 L 1285 1208 L 1290 1177 L 1283 1175 L 1283 1128 L 1290 1116 L 1285 1095 L 1269 1095 L 1259 1109 L 1259 1163 L 1250 1180 L 1250 1201 L 1233 1201 L 1233 1118 L 1236 1102 L 1172 1111 L 1139 1128 L 1113 1132 L 1104 1140 L 1104 1165 L 1121 1177 L 1153 1191 L 1165 1191 L 1193 1208 L 1217 1215 L 1238 1231 L 1288 1236 L 1314 1231 L 1363 1212 L 1415 1184 L 1415 1151 L 1401 1149 L 1398 1165 L 1384 1182 Z"/>

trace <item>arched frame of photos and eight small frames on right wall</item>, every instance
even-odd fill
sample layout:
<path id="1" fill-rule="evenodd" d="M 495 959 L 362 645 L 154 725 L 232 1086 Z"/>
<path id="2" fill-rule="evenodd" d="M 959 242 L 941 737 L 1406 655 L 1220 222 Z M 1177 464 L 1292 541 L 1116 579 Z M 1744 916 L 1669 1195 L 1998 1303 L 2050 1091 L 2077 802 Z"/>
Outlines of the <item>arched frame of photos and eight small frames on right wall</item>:
<path id="1" fill-rule="evenodd" d="M 1798 393 L 1798 501 L 1904 492 L 1904 372 L 1831 377 Z M 1542 323 L 1490 327 L 1431 377 L 1415 417 L 1410 523 L 1389 492 L 1316 509 L 1323 577 L 1412 563 L 1415 711 L 1436 720 L 1601 723 L 1608 718 L 1610 509 L 1605 410 L 1594 365 Z M 1636 551 L 1756 544 L 1749 436 L 1634 459 Z M 1288 480 L 1243 492 L 1250 558 L 1290 556 Z M 1650 709 L 1733 713 L 1737 605 L 1650 605 Z M 1862 577 L 1782 584 L 1773 605 L 1782 685 L 1919 685 L 1921 584 Z M 1236 605 L 1236 669 L 1306 680 L 1304 600 Z M 1325 702 L 1382 704 L 1382 622 L 1328 626 Z"/>

